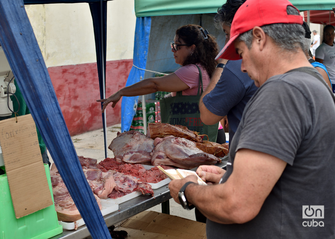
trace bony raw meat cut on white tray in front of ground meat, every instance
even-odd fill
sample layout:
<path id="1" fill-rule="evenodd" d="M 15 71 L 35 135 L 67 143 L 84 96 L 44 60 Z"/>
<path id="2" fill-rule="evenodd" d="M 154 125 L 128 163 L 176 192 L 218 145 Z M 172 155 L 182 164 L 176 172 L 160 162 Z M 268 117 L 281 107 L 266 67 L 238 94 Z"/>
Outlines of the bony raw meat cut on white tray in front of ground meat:
<path id="1" fill-rule="evenodd" d="M 151 194 L 153 196 L 153 190 L 151 185 L 147 183 L 139 183 L 136 177 L 126 175 L 121 172 L 115 172 L 113 174 L 116 187 L 113 192 L 108 195 L 109 198 L 118 198 L 134 191 L 141 192 L 142 194 Z"/>

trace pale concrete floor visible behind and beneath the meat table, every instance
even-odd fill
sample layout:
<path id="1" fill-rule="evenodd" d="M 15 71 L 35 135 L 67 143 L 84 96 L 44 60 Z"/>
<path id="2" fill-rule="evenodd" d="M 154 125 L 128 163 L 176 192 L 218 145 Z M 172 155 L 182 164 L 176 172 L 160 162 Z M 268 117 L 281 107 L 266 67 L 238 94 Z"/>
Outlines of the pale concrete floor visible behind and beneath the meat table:
<path id="1" fill-rule="evenodd" d="M 121 124 L 107 127 L 107 146 L 117 136 L 117 132 L 121 132 Z M 75 135 L 72 138 L 73 145 L 76 149 L 78 156 L 84 156 L 89 158 L 95 158 L 98 162 L 105 159 L 105 145 L 104 145 L 104 131 L 98 129 L 90 132 L 86 132 L 80 135 Z M 108 157 L 113 158 L 113 152 L 107 149 Z M 50 153 L 48 152 L 49 159 L 53 162 Z M 150 211 L 161 212 L 161 205 L 157 205 L 149 209 Z M 190 220 L 196 220 L 194 209 L 187 211 L 176 203 L 173 199 L 170 199 L 170 214 L 187 218 Z"/>

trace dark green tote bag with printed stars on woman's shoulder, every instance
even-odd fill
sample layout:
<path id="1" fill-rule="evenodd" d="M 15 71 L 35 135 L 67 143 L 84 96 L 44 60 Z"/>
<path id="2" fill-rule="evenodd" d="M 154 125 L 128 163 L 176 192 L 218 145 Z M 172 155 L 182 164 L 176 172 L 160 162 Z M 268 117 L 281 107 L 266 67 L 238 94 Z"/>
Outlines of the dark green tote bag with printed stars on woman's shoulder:
<path id="1" fill-rule="evenodd" d="M 207 135 L 209 141 L 216 142 L 219 123 L 206 125 L 200 119 L 198 104 L 203 92 L 203 87 L 200 68 L 198 66 L 196 67 L 199 70 L 198 94 L 195 96 L 183 96 L 182 92 L 179 91 L 174 97 L 160 99 L 161 122 L 186 126 L 189 130 L 198 132 L 199 135 Z M 207 140 L 207 137 L 204 136 L 203 139 Z"/>

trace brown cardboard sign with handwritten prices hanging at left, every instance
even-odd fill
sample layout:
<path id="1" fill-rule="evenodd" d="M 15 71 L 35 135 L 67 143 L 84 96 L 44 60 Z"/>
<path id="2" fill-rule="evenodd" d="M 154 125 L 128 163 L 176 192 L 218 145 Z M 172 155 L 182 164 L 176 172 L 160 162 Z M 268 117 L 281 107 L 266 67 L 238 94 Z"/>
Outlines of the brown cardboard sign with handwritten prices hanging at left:
<path id="1" fill-rule="evenodd" d="M 0 144 L 15 217 L 53 204 L 31 115 L 0 121 Z"/>

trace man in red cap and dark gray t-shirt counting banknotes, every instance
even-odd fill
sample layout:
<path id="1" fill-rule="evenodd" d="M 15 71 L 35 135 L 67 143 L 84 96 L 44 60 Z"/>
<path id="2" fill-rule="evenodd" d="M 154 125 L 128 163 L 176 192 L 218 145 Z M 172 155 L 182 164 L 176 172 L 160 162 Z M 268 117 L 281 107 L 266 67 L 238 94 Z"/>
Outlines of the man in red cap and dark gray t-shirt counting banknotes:
<path id="1" fill-rule="evenodd" d="M 208 239 L 334 238 L 335 101 L 302 49 L 302 23 L 286 0 L 247 0 L 234 16 L 218 57 L 242 58 L 259 89 L 229 145 L 227 170 L 201 165 L 211 185 L 194 176 L 169 184 L 176 202 L 207 217 Z"/>

